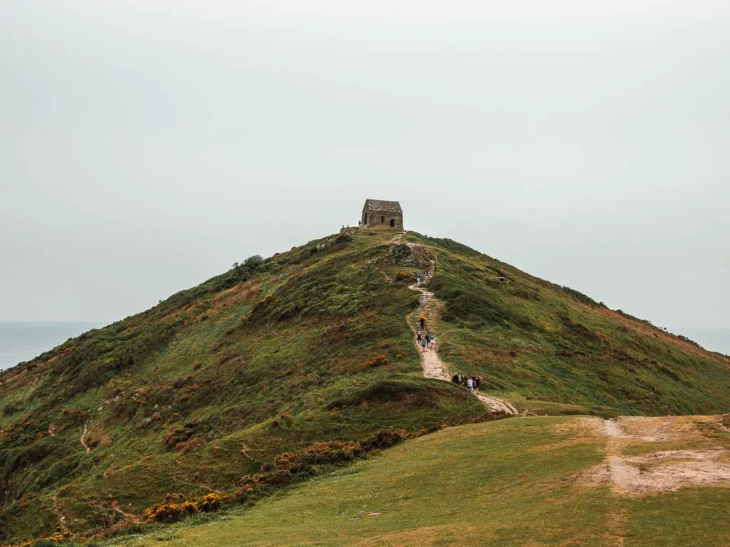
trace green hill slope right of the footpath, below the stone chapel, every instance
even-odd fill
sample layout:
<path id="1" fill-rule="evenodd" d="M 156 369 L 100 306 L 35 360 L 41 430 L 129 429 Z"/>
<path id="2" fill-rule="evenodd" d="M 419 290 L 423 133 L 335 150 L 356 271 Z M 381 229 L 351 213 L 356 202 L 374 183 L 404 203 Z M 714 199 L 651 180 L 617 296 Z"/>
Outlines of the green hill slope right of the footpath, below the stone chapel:
<path id="1" fill-rule="evenodd" d="M 438 255 L 439 354 L 485 390 L 622 414 L 730 410 L 730 359 L 453 241 Z"/>

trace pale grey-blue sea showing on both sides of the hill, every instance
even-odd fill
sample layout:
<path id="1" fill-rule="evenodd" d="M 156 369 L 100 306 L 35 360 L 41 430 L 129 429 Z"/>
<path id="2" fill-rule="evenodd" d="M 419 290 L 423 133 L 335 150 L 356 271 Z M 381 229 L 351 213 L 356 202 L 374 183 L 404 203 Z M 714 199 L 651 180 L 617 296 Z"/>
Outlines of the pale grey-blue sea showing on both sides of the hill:
<path id="1" fill-rule="evenodd" d="M 69 338 L 99 328 L 101 324 L 78 321 L 0 321 L 0 371 L 37 357 Z M 677 330 L 712 352 L 730 355 L 730 329 L 683 328 Z"/>

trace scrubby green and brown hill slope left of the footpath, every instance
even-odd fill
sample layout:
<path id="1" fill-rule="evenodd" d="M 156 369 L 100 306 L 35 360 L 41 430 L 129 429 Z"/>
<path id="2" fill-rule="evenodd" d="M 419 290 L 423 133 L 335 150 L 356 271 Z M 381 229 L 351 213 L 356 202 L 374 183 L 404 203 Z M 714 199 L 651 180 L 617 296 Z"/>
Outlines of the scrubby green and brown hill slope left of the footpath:
<path id="1" fill-rule="evenodd" d="M 5 538 L 101 529 L 280 452 L 485 413 L 420 375 L 388 282 L 392 231 L 312 241 L 173 295 L 0 376 Z M 382 356 L 380 359 L 376 357 Z M 55 499 L 54 499 L 55 497 Z"/>

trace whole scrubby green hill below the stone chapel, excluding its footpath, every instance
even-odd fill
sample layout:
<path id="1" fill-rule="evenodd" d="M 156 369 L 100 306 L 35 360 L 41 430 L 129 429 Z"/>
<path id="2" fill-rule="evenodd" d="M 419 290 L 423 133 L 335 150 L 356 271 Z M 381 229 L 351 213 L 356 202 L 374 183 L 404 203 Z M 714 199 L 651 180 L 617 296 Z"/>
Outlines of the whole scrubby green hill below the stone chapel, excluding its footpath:
<path id="1" fill-rule="evenodd" d="M 93 535 L 166 494 L 230 490 L 318 441 L 500 417 L 422 376 L 407 285 L 436 257 L 439 354 L 519 408 L 730 408 L 727 357 L 454 241 L 393 235 L 251 257 L 0 373 L 1 540 Z"/>

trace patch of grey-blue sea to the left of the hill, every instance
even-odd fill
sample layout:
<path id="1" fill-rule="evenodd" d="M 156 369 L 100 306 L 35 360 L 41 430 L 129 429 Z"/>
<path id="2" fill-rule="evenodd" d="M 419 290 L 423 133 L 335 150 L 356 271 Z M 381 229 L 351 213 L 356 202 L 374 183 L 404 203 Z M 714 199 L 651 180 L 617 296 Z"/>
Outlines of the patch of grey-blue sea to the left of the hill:
<path id="1" fill-rule="evenodd" d="M 0 321 L 0 371 L 100 326 L 79 321 Z"/>

